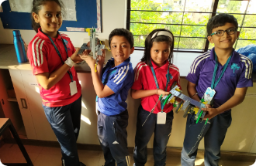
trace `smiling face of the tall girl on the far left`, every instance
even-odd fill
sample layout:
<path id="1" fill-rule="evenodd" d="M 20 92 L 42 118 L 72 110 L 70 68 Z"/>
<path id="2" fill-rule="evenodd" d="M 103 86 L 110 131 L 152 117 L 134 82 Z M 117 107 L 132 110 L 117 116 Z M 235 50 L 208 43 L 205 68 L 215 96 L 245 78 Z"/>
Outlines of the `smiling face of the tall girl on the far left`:
<path id="1" fill-rule="evenodd" d="M 40 23 L 44 33 L 52 38 L 57 37 L 57 30 L 60 29 L 62 25 L 60 5 L 57 5 L 56 2 L 45 2 L 38 12 L 38 15 L 33 12 L 33 18 L 36 23 Z"/>

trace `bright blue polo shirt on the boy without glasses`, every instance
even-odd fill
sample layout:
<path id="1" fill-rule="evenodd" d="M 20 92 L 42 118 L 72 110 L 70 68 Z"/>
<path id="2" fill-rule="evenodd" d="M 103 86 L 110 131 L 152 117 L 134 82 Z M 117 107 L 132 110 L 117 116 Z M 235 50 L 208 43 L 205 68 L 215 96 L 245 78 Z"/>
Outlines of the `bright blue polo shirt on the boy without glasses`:
<path id="1" fill-rule="evenodd" d="M 134 72 L 130 57 L 119 66 L 112 67 L 114 59 L 111 58 L 102 70 L 102 83 L 114 91 L 109 97 L 99 98 L 97 108 L 108 116 L 122 113 L 127 108 L 126 99 L 128 91 L 133 86 Z"/>

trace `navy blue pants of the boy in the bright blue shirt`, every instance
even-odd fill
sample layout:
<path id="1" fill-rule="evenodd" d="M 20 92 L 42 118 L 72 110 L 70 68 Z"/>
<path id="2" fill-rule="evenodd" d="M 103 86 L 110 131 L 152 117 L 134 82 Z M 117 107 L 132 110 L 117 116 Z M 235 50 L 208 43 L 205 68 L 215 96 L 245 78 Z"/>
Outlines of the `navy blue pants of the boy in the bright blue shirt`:
<path id="1" fill-rule="evenodd" d="M 114 116 L 99 112 L 98 137 L 105 158 L 105 166 L 129 166 L 130 156 L 127 148 L 128 111 Z"/>

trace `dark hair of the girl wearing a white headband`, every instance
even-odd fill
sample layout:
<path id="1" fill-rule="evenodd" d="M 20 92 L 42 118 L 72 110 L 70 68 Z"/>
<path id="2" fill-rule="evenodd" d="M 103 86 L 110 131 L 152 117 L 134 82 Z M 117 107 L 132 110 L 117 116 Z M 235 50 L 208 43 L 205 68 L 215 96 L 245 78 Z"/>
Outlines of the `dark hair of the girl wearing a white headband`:
<path id="1" fill-rule="evenodd" d="M 172 39 L 169 36 L 164 36 L 164 35 L 157 36 L 157 34 L 156 34 L 156 36 L 154 36 L 153 39 L 151 39 L 155 32 L 158 33 L 160 31 L 169 32 L 172 36 Z M 168 61 L 171 64 L 172 57 L 173 57 L 173 48 L 174 48 L 175 38 L 174 38 L 173 34 L 171 33 L 171 31 L 169 31 L 168 29 L 154 29 L 154 31 L 150 32 L 150 34 L 147 36 L 147 38 L 145 40 L 144 56 L 140 60 L 144 63 L 147 63 L 147 65 L 150 65 L 150 49 L 153 46 L 153 42 L 168 42 L 170 49 L 171 49 L 170 55 L 168 56 Z"/>

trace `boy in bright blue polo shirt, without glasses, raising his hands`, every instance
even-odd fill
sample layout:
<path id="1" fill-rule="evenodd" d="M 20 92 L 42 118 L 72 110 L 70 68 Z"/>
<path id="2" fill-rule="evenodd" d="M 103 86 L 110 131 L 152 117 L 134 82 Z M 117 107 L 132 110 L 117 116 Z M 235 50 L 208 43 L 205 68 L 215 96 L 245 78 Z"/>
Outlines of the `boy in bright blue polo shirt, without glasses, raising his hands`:
<path id="1" fill-rule="evenodd" d="M 105 52 L 99 56 L 97 73 L 95 59 L 81 56 L 92 70 L 92 82 L 98 102 L 98 136 L 104 152 L 105 165 L 128 166 L 127 148 L 128 111 L 126 98 L 133 85 L 134 73 L 130 54 L 133 53 L 133 34 L 126 29 L 114 29 L 109 35 L 113 58 L 102 69 Z"/>

